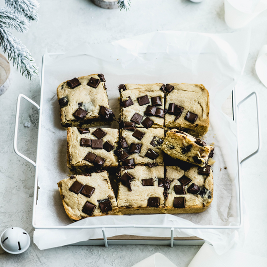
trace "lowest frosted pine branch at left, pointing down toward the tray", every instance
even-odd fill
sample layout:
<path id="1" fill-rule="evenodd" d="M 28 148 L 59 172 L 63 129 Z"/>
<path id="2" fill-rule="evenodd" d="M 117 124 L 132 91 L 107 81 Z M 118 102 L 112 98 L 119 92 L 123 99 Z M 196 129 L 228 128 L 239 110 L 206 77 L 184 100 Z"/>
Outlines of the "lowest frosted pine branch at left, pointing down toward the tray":
<path id="1" fill-rule="evenodd" d="M 20 68 L 22 75 L 30 79 L 38 76 L 37 66 L 32 63 L 34 60 L 29 50 L 1 24 L 0 46 L 8 53 L 8 59 L 13 60 L 13 66 L 16 64 L 17 70 Z"/>

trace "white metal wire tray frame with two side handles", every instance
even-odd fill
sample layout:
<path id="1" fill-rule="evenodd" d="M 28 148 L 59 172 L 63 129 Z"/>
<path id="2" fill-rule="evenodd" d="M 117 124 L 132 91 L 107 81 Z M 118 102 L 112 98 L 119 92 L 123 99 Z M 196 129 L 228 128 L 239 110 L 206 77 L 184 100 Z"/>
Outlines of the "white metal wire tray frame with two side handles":
<path id="1" fill-rule="evenodd" d="M 61 56 L 65 53 L 49 53 L 49 56 Z M 45 61 L 46 61 L 46 55 L 43 56 L 42 61 L 42 74 L 41 74 L 41 97 L 40 97 L 40 106 L 36 104 L 34 101 L 29 99 L 27 96 L 20 94 L 18 96 L 17 101 L 17 112 L 16 112 L 16 123 L 15 123 L 15 135 L 14 135 L 14 150 L 15 152 L 31 164 L 35 166 L 36 172 L 35 172 L 35 185 L 34 185 L 34 202 L 33 202 L 33 220 L 32 224 L 33 227 L 36 229 L 96 229 L 100 228 L 102 229 L 103 233 L 103 240 L 88 240 L 88 241 L 82 241 L 78 242 L 76 244 L 78 245 L 100 245 L 104 244 L 106 247 L 108 244 L 161 244 L 161 245 L 170 245 L 171 247 L 176 244 L 202 244 L 203 240 L 174 240 L 174 229 L 239 229 L 242 227 L 243 223 L 243 206 L 242 206 L 242 190 L 241 190 L 241 165 L 244 163 L 247 159 L 251 158 L 255 154 L 257 154 L 261 147 L 261 135 L 260 135 L 260 119 L 259 119 L 259 106 L 258 106 L 258 95 L 256 92 L 252 92 L 247 97 L 245 97 L 243 100 L 241 100 L 239 103 L 236 104 L 235 102 L 235 90 L 232 92 L 232 106 L 233 106 L 233 119 L 237 124 L 237 159 L 238 159 L 238 188 L 237 192 L 239 194 L 238 197 L 238 213 L 239 213 L 239 222 L 235 226 L 216 226 L 216 225 L 194 225 L 194 226 L 188 226 L 188 225 L 137 225 L 137 224 L 129 224 L 129 225 L 97 225 L 97 226 L 73 226 L 73 225 L 67 225 L 67 226 L 42 226 L 37 225 L 35 222 L 35 215 L 36 215 L 36 203 L 37 203 L 37 196 L 38 196 L 38 169 L 39 169 L 39 148 L 40 148 L 40 134 L 41 134 L 41 125 L 42 125 L 42 106 L 43 106 L 43 90 L 44 90 L 44 74 L 45 74 Z M 250 97 L 255 96 L 255 102 L 256 102 L 256 114 L 257 114 L 257 134 L 258 134 L 258 147 L 257 149 L 251 153 L 250 155 L 246 156 L 245 158 L 240 158 L 240 152 L 239 152 L 239 143 L 238 143 L 238 110 L 239 107 Z M 37 155 L 36 155 L 36 162 L 29 159 L 25 155 L 23 155 L 21 152 L 18 151 L 17 148 L 17 141 L 18 141 L 18 127 L 19 127 L 19 116 L 20 116 L 20 103 L 21 98 L 26 99 L 29 101 L 32 105 L 34 105 L 39 110 L 39 132 L 38 132 L 38 143 L 37 143 Z M 109 228 L 165 228 L 170 230 L 170 239 L 168 240 L 162 240 L 162 239 L 153 239 L 153 240 L 142 240 L 142 239 L 135 239 L 135 240 L 108 240 L 106 237 L 106 230 Z"/>

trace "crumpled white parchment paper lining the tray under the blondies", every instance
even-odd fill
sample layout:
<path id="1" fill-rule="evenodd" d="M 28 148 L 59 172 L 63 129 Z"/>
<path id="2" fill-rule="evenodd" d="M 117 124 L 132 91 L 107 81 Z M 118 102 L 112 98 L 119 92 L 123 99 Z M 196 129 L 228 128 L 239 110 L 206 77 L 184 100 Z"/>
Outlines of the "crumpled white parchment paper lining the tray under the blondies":
<path id="1" fill-rule="evenodd" d="M 248 32 L 199 34 L 155 32 L 110 44 L 80 45 L 64 56 L 46 55 L 43 118 L 40 144 L 39 191 L 36 223 L 40 227 L 71 223 L 65 213 L 57 182 L 67 178 L 66 131 L 60 125 L 57 86 L 74 77 L 103 73 L 111 108 L 118 117 L 118 85 L 123 83 L 197 83 L 210 94 L 210 129 L 205 136 L 215 144 L 214 199 L 197 214 L 124 215 L 86 218 L 73 225 L 237 225 L 236 125 L 221 111 L 240 77 L 249 49 Z M 117 127 L 114 124 L 112 127 Z M 174 236 L 198 236 L 211 242 L 218 253 L 238 240 L 236 230 L 176 229 Z M 135 234 L 170 236 L 170 230 L 111 228 L 107 236 Z M 103 237 L 101 229 L 36 230 L 40 249 Z"/>

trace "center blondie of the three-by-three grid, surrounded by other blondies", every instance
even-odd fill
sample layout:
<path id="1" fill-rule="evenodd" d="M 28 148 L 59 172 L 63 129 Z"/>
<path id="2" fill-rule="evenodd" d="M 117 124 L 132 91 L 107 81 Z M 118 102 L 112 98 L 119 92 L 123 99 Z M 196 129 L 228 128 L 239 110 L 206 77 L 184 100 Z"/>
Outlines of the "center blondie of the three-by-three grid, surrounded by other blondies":
<path id="1" fill-rule="evenodd" d="M 118 158 L 122 166 L 163 165 L 163 128 L 122 129 Z"/>

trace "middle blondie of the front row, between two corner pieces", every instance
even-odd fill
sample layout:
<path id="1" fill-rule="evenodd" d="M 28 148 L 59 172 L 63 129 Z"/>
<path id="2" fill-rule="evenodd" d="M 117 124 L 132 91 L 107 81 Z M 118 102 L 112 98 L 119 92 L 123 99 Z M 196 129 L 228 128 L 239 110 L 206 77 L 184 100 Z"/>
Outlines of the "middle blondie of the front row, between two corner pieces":
<path id="1" fill-rule="evenodd" d="M 164 167 L 121 168 L 118 207 L 122 214 L 164 213 Z"/>

